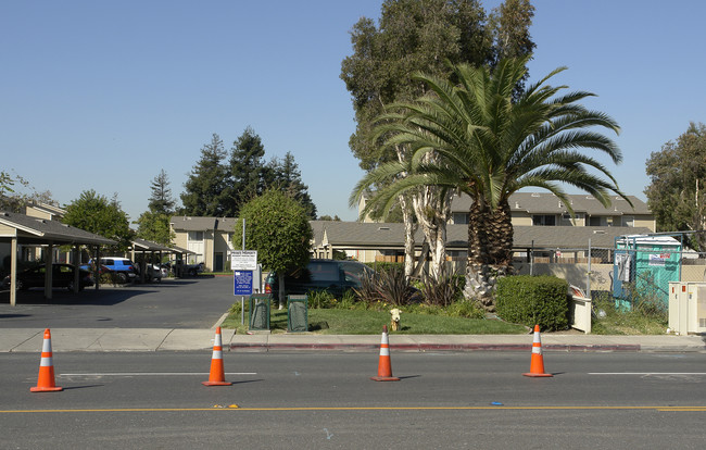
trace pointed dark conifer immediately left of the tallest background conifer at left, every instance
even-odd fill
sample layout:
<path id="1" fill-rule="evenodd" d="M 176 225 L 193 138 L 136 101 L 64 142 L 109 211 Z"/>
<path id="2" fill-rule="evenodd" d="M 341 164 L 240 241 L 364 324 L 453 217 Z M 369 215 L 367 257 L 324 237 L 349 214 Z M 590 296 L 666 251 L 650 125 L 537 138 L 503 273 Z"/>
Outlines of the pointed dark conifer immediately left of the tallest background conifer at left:
<path id="1" fill-rule="evenodd" d="M 223 140 L 213 134 L 211 142 L 201 148 L 201 158 L 193 166 L 181 193 L 182 212 L 197 216 L 223 216 L 225 208 L 223 193 L 228 179 L 223 164 L 226 151 Z"/>

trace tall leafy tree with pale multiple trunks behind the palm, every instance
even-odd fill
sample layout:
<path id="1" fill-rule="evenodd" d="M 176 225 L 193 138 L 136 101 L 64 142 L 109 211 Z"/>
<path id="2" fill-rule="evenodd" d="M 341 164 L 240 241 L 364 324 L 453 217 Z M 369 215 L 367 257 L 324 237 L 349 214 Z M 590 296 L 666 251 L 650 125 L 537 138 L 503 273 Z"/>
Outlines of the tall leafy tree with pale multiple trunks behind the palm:
<path id="1" fill-rule="evenodd" d="M 490 16 L 478 0 L 386 0 L 379 26 L 370 18 L 361 18 L 351 32 L 353 55 L 345 58 L 341 66 L 356 121 L 349 143 L 361 167 L 371 171 L 379 164 L 409 158 L 409 150 L 403 145 L 380 145 L 375 122 L 390 104 L 426 92 L 427 87 L 413 79 L 415 72 L 445 78 L 452 75 L 447 61 L 481 66 L 494 65 L 507 54 L 530 54 L 534 48 L 529 36 L 533 11 L 529 0 L 508 0 Z M 521 82 L 518 80 L 516 89 Z M 425 158 L 431 161 L 436 155 L 430 152 Z M 379 183 L 382 182 L 367 188 L 382 188 Z M 430 245 L 432 260 L 445 260 L 451 198 L 447 189 L 426 186 L 396 199 L 405 224 L 406 275 L 413 270 L 417 224 Z M 388 210 L 381 210 L 376 215 L 387 214 Z"/>

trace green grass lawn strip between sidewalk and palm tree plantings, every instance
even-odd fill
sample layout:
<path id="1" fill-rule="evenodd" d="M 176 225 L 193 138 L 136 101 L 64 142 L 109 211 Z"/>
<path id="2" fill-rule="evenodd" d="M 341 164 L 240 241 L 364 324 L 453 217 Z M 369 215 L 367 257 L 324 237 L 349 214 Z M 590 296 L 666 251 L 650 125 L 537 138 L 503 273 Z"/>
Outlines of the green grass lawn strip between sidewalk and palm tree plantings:
<path id="1" fill-rule="evenodd" d="M 248 330 L 248 311 L 245 325 L 241 325 L 240 303 L 236 303 L 228 317 L 220 325 L 224 328 L 237 329 L 238 333 Z M 287 332 L 287 310 L 270 312 L 272 333 Z M 407 335 L 514 335 L 526 334 L 521 325 L 508 324 L 496 320 L 450 317 L 445 315 L 402 313 L 402 329 L 396 334 Z M 382 325 L 390 325 L 390 313 L 387 311 L 363 311 L 342 309 L 310 309 L 310 329 L 324 335 L 376 335 L 382 330 Z"/>

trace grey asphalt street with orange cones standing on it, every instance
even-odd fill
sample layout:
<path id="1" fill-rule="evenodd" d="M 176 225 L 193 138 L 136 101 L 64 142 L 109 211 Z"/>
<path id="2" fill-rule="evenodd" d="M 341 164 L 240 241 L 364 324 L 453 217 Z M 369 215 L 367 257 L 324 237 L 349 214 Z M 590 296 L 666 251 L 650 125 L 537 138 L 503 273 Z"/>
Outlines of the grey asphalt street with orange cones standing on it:
<path id="1" fill-rule="evenodd" d="M 38 357 L 0 355 L 1 448 L 553 449 L 704 447 L 706 354 L 54 354 L 62 392 L 30 393 Z"/>

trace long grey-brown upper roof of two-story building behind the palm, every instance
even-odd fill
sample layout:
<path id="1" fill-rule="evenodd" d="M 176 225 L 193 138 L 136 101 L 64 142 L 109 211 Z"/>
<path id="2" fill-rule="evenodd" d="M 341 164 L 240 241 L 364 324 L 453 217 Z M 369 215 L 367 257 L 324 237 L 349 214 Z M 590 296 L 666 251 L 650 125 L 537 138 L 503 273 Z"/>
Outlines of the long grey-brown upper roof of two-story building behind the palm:
<path id="1" fill-rule="evenodd" d="M 627 196 L 632 207 L 622 197 L 610 198 L 609 208 L 603 207 L 598 200 L 589 195 L 567 195 L 575 213 L 588 215 L 633 215 L 652 214 L 647 203 L 634 196 Z M 471 205 L 470 197 L 465 193 L 454 196 L 452 212 L 467 213 Z M 515 192 L 509 197 L 510 211 L 521 211 L 529 214 L 565 214 L 568 213 L 566 204 L 551 192 Z"/>

